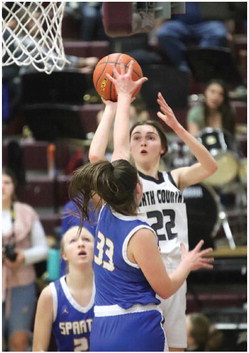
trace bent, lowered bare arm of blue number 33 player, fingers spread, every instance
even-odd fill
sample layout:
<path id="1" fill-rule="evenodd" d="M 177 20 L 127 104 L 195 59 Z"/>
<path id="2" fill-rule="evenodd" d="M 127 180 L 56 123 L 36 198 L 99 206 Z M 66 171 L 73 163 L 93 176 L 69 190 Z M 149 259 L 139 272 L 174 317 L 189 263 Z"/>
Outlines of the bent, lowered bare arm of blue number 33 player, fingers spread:
<path id="1" fill-rule="evenodd" d="M 171 274 L 163 264 L 157 240 L 149 229 L 140 229 L 131 238 L 128 245 L 129 260 L 137 263 L 154 291 L 166 299 L 174 294 L 193 270 L 200 268 L 212 269 L 213 258 L 204 257 L 211 248 L 201 250 L 201 240 L 192 251 L 182 245 L 182 259 L 177 269 Z"/>

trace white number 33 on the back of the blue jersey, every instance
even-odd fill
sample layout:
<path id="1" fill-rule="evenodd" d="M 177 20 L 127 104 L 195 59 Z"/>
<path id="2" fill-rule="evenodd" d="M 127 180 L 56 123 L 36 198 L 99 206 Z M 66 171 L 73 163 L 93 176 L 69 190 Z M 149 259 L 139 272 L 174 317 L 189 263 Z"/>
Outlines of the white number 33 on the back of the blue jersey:
<path id="1" fill-rule="evenodd" d="M 98 255 L 94 256 L 94 262 L 108 271 L 113 271 L 113 242 L 109 238 L 106 238 L 104 234 L 98 232 L 98 243 L 96 247 L 98 250 Z M 108 261 L 103 260 L 104 255 L 108 258 Z"/>

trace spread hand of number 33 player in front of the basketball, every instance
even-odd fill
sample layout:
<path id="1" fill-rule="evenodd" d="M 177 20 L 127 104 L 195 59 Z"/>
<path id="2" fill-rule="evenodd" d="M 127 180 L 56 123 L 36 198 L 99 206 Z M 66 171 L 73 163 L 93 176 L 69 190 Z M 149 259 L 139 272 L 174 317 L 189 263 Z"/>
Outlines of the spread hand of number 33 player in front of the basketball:
<path id="1" fill-rule="evenodd" d="M 133 64 L 134 61 L 132 60 L 129 64 L 127 72 L 125 72 L 125 65 L 123 63 L 120 63 L 120 73 L 113 65 L 114 77 L 112 77 L 108 73 L 106 74 L 107 78 L 115 85 L 117 95 L 127 94 L 129 96 L 132 96 L 132 93 L 148 80 L 147 77 L 142 77 L 137 81 L 132 80 Z"/>

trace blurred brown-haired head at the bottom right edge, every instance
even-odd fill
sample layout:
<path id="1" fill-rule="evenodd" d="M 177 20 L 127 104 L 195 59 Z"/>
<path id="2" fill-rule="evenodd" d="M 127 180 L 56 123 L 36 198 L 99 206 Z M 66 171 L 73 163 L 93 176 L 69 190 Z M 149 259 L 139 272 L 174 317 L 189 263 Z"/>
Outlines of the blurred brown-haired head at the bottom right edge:
<path id="1" fill-rule="evenodd" d="M 222 345 L 222 332 L 211 325 L 208 317 L 202 313 L 191 313 L 186 316 L 187 351 L 217 351 Z"/>

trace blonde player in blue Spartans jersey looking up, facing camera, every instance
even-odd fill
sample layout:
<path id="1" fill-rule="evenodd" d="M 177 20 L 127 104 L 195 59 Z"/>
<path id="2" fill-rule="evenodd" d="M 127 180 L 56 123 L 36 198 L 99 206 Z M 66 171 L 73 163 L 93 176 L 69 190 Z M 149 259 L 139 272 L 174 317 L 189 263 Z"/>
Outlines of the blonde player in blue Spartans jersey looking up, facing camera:
<path id="1" fill-rule="evenodd" d="M 89 351 L 94 316 L 92 234 L 71 227 L 61 241 L 68 273 L 43 289 L 37 304 L 33 351 L 47 351 L 53 333 L 58 351 Z"/>

